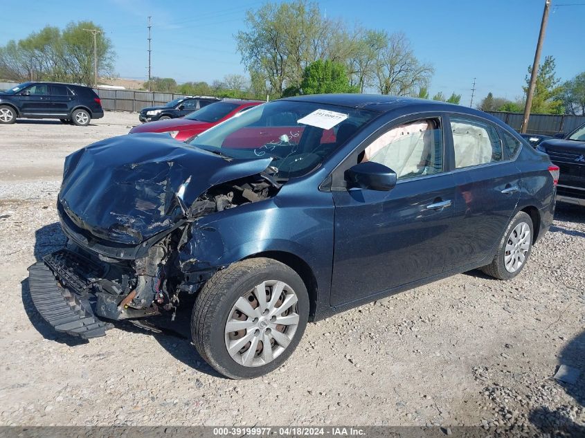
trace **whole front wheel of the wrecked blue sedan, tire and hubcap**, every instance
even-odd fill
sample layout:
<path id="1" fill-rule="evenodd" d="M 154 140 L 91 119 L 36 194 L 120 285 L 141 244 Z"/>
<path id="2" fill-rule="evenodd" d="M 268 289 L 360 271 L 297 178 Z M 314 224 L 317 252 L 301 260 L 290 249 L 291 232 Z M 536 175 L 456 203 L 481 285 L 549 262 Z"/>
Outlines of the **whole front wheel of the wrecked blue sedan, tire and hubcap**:
<path id="1" fill-rule="evenodd" d="M 309 318 L 303 280 L 273 259 L 217 272 L 195 302 L 191 334 L 201 357 L 231 378 L 263 376 L 294 352 Z"/>

